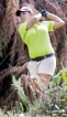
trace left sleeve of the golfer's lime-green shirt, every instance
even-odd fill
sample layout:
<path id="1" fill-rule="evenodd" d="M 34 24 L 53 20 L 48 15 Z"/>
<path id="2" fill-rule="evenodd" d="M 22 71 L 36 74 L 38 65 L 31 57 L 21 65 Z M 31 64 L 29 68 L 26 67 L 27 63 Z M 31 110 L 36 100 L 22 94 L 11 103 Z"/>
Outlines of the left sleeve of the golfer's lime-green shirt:
<path id="1" fill-rule="evenodd" d="M 26 30 L 25 29 L 26 29 L 26 22 L 21 23 L 19 29 L 18 29 L 18 31 L 20 33 L 20 36 L 23 40 L 23 42 L 25 42 L 25 40 L 24 40 L 25 39 L 25 34 L 26 34 Z"/>

